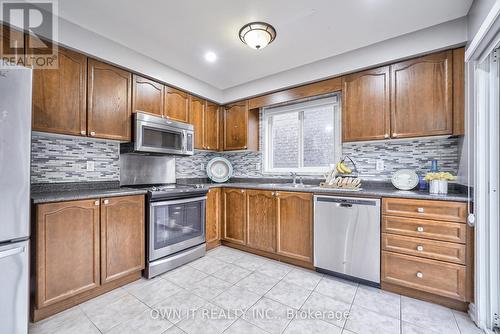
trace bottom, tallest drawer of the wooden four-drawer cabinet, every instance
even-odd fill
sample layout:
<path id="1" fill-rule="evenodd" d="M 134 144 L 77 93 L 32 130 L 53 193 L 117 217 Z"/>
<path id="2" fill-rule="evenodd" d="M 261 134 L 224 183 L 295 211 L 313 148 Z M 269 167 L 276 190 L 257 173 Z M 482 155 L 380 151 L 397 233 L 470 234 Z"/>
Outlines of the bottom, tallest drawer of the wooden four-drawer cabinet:
<path id="1" fill-rule="evenodd" d="M 465 266 L 382 251 L 382 281 L 465 301 Z"/>

